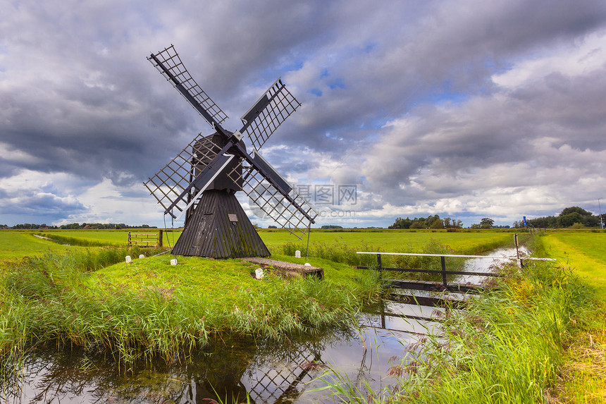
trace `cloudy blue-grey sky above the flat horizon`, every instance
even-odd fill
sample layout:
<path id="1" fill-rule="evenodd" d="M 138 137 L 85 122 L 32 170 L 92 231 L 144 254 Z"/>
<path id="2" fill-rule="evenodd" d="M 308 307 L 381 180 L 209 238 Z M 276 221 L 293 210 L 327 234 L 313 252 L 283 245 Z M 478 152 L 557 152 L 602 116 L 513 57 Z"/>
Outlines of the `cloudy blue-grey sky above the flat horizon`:
<path id="1" fill-rule="evenodd" d="M 171 226 L 143 182 L 212 133 L 147 61 L 171 44 L 227 129 L 278 77 L 301 102 L 261 154 L 315 226 L 606 212 L 603 0 L 0 9 L 0 224 Z"/>

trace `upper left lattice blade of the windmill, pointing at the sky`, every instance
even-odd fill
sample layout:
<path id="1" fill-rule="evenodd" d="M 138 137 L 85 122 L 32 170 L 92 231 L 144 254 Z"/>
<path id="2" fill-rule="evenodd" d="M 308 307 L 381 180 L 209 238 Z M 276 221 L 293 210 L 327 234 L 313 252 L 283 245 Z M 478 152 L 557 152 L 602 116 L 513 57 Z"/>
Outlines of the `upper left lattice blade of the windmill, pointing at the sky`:
<path id="1" fill-rule="evenodd" d="M 192 104 L 194 109 L 196 109 L 196 111 L 198 111 L 198 113 L 209 122 L 209 125 L 212 128 L 214 128 L 215 123 L 221 123 L 228 118 L 221 108 L 215 104 L 211 97 L 209 97 L 192 78 L 190 72 L 188 72 L 185 65 L 183 65 L 179 54 L 177 51 L 175 51 L 174 45 L 171 45 L 163 51 L 159 51 L 157 54 L 152 54 L 152 56 L 147 58 L 147 60 L 152 62 L 154 67 L 157 68 L 160 73 L 162 73 L 166 80 L 171 82 L 173 87 L 177 88 L 183 97 L 187 99 L 187 102 Z M 183 90 L 185 90 L 187 94 L 190 94 L 192 99 L 183 94 L 183 92 L 178 88 L 179 85 L 183 86 Z M 204 116 L 204 114 L 194 103 L 197 103 L 198 106 L 202 106 L 202 109 L 204 109 L 215 122 L 209 121 L 209 118 Z"/>

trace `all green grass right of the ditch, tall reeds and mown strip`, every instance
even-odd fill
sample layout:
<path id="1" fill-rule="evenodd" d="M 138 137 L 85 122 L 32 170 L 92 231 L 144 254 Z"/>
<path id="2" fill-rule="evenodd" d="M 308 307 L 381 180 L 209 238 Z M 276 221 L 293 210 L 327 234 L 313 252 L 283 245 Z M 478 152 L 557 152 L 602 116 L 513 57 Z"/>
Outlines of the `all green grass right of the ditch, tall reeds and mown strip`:
<path id="1" fill-rule="evenodd" d="M 397 386 L 323 379 L 350 403 L 604 403 L 603 233 L 549 233 L 536 253 L 560 259 L 509 269 L 499 288 L 442 318 L 443 332 L 390 363 Z"/>

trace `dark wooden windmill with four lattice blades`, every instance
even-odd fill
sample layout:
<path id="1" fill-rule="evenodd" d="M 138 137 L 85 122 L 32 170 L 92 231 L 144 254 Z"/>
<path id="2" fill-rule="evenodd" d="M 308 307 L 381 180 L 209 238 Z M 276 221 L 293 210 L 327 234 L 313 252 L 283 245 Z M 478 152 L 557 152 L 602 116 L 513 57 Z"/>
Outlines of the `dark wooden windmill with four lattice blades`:
<path id="1" fill-rule="evenodd" d="M 272 133 L 301 105 L 278 78 L 242 116 L 242 128 L 230 132 L 227 115 L 194 81 L 171 45 L 147 58 L 214 133 L 200 133 L 182 152 L 144 183 L 164 208 L 180 219 L 183 233 L 173 254 L 199 257 L 267 257 L 269 250 L 235 197 L 249 200 L 301 239 L 318 213 L 261 154 Z M 247 152 L 245 135 L 252 146 Z M 178 211 L 178 212 L 175 212 Z"/>

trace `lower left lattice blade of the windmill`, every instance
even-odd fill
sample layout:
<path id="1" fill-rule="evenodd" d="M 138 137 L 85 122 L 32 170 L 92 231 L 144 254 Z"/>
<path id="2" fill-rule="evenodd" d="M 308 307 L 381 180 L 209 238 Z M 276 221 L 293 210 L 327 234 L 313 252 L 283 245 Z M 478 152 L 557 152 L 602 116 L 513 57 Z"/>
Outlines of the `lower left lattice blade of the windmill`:
<path id="1" fill-rule="evenodd" d="M 208 164 L 220 151 L 221 147 L 200 133 L 144 185 L 166 210 L 190 186 L 195 176 L 196 166 Z M 192 188 L 190 198 L 194 195 L 195 189 Z M 175 208 L 183 212 L 188 202 L 190 201 L 180 200 Z"/>

